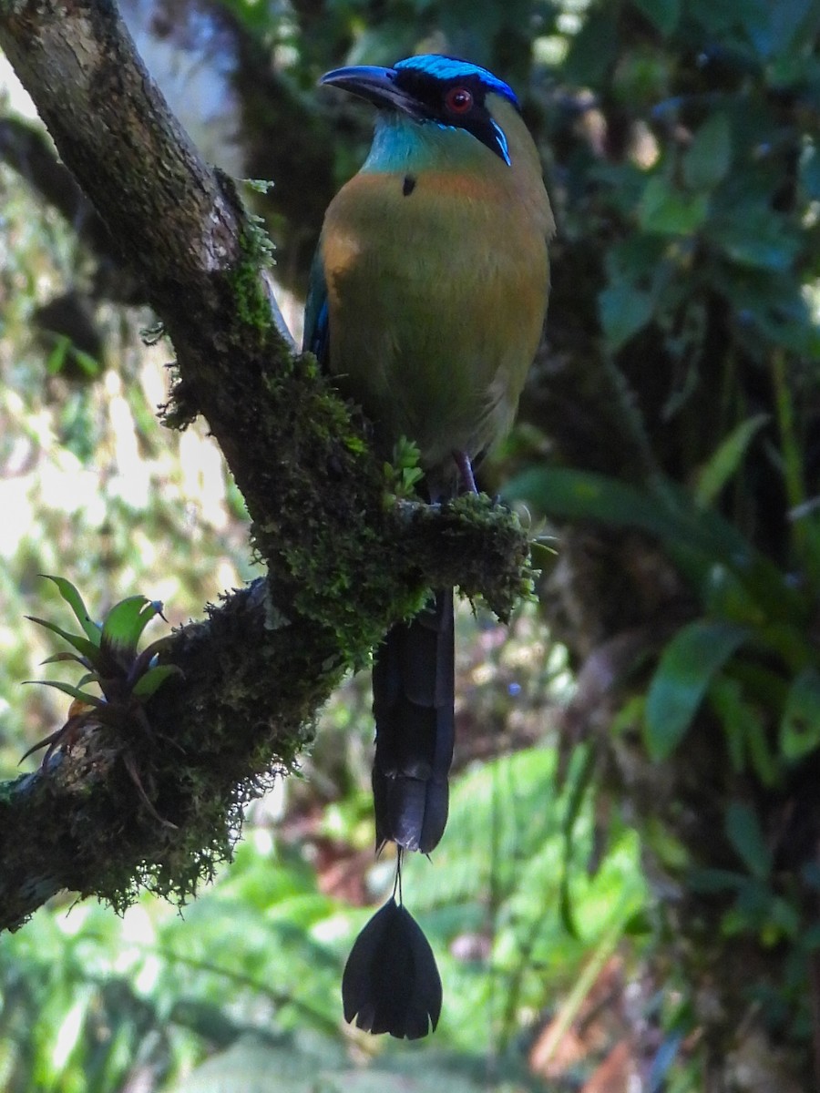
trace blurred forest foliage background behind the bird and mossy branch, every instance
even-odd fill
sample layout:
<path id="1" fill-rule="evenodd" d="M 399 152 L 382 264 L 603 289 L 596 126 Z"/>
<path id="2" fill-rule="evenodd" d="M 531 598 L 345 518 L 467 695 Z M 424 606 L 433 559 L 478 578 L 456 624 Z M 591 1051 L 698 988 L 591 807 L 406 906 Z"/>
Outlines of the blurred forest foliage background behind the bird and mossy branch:
<path id="1" fill-rule="evenodd" d="M 153 20 L 163 48 L 140 45 L 186 126 L 202 129 L 186 114 L 202 87 L 232 86 L 215 97 L 241 118 L 204 126 L 229 134 L 225 163 L 239 143 L 247 174 L 304 195 L 260 207 L 289 285 L 368 140 L 364 110 L 314 90 L 323 71 L 435 49 L 513 83 L 559 234 L 547 342 L 485 481 L 558 554 L 508 633 L 459 620 L 452 819 L 405 884 L 445 985 L 434 1039 L 340 1023 L 344 955 L 391 872 L 372 857 L 354 680 L 303 777 L 251 809 L 181 915 L 67 897 L 4 941 L 0 1084 L 810 1088 L 820 3 L 233 0 L 129 19 Z M 27 183 L 0 165 L 7 777 L 65 719 L 19 686 L 52 651 L 21 623 L 55 616 L 38 573 L 97 616 L 139 592 L 178 623 L 253 572 L 204 431 L 156 425 L 171 348 L 142 345 L 151 316 L 112 303 L 107 258 Z M 94 338 L 44 334 L 66 297 Z"/>

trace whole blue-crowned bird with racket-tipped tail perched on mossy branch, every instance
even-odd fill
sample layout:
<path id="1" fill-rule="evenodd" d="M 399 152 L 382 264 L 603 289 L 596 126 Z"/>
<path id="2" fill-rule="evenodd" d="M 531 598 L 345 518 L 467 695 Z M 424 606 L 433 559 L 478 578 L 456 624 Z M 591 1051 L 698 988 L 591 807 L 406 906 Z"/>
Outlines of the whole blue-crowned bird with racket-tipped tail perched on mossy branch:
<path id="1" fill-rule="evenodd" d="M 373 104 L 376 121 L 325 214 L 304 348 L 385 458 L 415 444 L 426 500 L 442 503 L 475 491 L 472 467 L 511 428 L 541 340 L 554 221 L 538 151 L 512 87 L 460 58 L 352 66 L 319 83 Z M 397 845 L 399 893 L 401 855 L 430 854 L 447 823 L 453 635 L 453 589 L 440 589 L 375 650 L 376 848 Z M 353 948 L 344 1014 L 414 1038 L 435 1027 L 441 982 L 395 895 Z"/>

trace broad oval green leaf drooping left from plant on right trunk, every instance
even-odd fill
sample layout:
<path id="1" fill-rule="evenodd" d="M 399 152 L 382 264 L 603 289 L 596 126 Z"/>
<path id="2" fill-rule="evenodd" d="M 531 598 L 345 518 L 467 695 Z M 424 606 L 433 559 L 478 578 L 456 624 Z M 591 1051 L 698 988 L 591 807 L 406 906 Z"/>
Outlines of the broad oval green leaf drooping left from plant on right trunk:
<path id="1" fill-rule="evenodd" d="M 745 626 L 698 620 L 664 649 L 649 683 L 644 721 L 646 748 L 668 759 L 687 734 L 713 677 L 749 636 Z"/>

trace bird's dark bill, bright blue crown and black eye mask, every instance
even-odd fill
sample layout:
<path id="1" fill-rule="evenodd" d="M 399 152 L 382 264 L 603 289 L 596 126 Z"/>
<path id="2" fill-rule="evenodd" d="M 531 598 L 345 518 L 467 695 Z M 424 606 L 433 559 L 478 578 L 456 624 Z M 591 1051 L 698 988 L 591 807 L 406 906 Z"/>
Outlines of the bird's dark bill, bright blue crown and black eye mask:
<path id="1" fill-rule="evenodd" d="M 513 90 L 478 64 L 423 54 L 393 68 L 356 64 L 335 69 L 319 81 L 374 103 L 379 110 L 422 127 L 464 130 L 509 166 L 507 136 L 499 114 L 520 110 Z"/>

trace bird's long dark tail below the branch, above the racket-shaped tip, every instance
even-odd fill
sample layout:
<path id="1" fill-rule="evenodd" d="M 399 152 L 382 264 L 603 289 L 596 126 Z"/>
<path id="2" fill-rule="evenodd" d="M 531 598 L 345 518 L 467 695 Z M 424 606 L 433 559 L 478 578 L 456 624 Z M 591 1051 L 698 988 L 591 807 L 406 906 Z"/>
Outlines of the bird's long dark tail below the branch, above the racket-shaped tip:
<path id="1" fill-rule="evenodd" d="M 376 847 L 427 854 L 447 824 L 455 738 L 453 589 L 394 626 L 373 667 Z"/>

